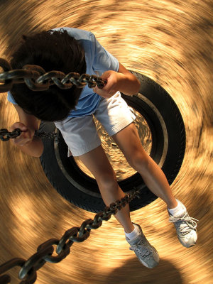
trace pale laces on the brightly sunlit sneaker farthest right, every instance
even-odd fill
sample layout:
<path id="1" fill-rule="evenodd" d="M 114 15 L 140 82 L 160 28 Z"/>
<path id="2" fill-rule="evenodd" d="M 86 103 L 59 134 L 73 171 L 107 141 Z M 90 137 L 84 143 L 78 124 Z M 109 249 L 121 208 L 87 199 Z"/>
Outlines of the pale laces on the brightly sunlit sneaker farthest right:
<path id="1" fill-rule="evenodd" d="M 182 235 L 186 235 L 190 233 L 190 229 L 195 230 L 197 227 L 197 223 L 199 220 L 190 217 L 187 213 L 184 215 L 184 217 L 173 217 L 171 216 L 169 219 L 170 223 L 175 223 L 180 224 L 180 233 Z M 183 223 L 185 222 L 185 223 Z"/>

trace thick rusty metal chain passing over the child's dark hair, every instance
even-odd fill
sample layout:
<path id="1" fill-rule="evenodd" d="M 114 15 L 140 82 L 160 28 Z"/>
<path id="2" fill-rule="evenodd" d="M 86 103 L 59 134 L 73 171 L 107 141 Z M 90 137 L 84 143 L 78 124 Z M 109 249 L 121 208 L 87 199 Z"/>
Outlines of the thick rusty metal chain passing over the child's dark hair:
<path id="1" fill-rule="evenodd" d="M 97 85 L 102 89 L 107 81 L 96 75 L 70 72 L 67 75 L 60 71 L 45 72 L 38 65 L 25 65 L 22 69 L 12 70 L 9 62 L 0 58 L 0 67 L 4 72 L 0 73 L 0 92 L 8 92 L 13 84 L 25 83 L 33 91 L 45 91 L 55 84 L 60 89 L 70 89 L 74 84 L 77 88 L 84 88 L 87 84 L 89 88 Z"/>

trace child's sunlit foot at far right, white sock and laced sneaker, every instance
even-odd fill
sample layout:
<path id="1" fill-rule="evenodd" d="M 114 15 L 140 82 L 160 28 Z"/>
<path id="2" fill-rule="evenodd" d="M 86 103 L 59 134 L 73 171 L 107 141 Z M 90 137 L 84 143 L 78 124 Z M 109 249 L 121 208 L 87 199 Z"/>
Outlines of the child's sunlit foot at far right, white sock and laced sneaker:
<path id="1" fill-rule="evenodd" d="M 190 246 L 195 246 L 197 241 L 197 223 L 195 221 L 198 221 L 195 218 L 191 218 L 190 215 L 187 212 L 187 209 L 185 206 L 178 201 L 178 212 L 172 214 L 173 209 L 168 209 L 168 214 L 170 215 L 169 222 L 174 223 L 178 239 L 182 246 L 185 246 L 186 248 L 190 248 Z"/>

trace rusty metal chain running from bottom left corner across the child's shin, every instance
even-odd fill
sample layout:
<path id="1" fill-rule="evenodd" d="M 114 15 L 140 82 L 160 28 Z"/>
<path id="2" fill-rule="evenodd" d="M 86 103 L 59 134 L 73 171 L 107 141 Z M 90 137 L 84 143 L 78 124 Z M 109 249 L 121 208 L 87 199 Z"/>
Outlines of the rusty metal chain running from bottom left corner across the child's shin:
<path id="1" fill-rule="evenodd" d="M 109 207 L 105 207 L 103 212 L 95 215 L 94 219 L 85 220 L 80 227 L 72 227 L 65 231 L 61 239 L 49 239 L 37 248 L 37 252 L 33 254 L 28 260 L 23 258 L 13 258 L 0 266 L 0 284 L 8 284 L 11 282 L 11 277 L 6 273 L 15 266 L 21 266 L 18 273 L 18 278 L 21 280 L 19 284 L 32 284 L 35 283 L 37 278 L 36 271 L 45 265 L 46 262 L 58 263 L 62 261 L 68 254 L 70 254 L 70 247 L 74 242 L 82 242 L 88 239 L 91 229 L 98 229 L 102 226 L 102 221 L 108 221 L 111 215 L 116 214 L 118 210 L 125 207 L 126 204 L 131 202 L 135 197 L 140 198 L 139 189 L 134 188 L 133 192 L 121 200 L 111 203 Z M 53 256 L 54 245 L 56 245 L 55 253 Z"/>

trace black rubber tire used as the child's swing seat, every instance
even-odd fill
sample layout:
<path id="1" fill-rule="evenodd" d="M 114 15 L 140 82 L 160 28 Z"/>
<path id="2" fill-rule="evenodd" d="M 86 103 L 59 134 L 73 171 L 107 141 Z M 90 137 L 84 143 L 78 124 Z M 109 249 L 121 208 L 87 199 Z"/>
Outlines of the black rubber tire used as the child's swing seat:
<path id="1" fill-rule="evenodd" d="M 140 92 L 133 97 L 122 94 L 129 106 L 143 115 L 151 129 L 151 157 L 165 173 L 168 182 L 175 180 L 185 154 L 185 126 L 180 111 L 159 84 L 136 72 L 132 72 L 141 82 Z M 55 124 L 41 122 L 40 131 L 55 131 Z M 97 182 L 84 174 L 75 163 L 74 158 L 67 158 L 67 145 L 60 135 L 60 143 L 43 138 L 44 151 L 40 157 L 45 175 L 53 187 L 66 200 L 89 212 L 100 212 L 105 205 L 99 194 Z M 153 202 L 157 197 L 148 190 L 136 173 L 130 178 L 121 180 L 120 187 L 124 192 L 141 188 L 140 197 L 130 202 L 130 210 L 134 211 Z"/>

